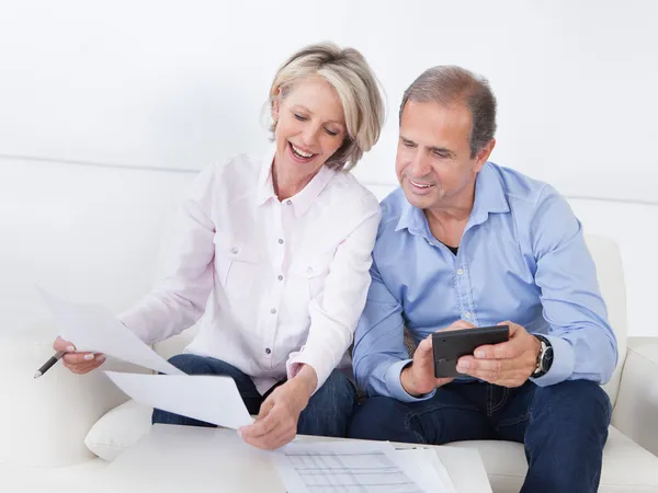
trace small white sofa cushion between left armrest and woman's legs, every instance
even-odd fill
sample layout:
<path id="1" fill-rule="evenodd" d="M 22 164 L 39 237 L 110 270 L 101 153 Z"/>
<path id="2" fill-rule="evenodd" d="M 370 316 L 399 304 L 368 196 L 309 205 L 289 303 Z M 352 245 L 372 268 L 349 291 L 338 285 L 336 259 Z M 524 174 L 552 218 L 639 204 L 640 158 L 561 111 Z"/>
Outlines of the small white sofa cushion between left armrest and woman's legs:
<path id="1" fill-rule="evenodd" d="M 101 459 L 112 462 L 149 432 L 151 413 L 152 408 L 134 400 L 124 402 L 95 422 L 84 445 Z"/>

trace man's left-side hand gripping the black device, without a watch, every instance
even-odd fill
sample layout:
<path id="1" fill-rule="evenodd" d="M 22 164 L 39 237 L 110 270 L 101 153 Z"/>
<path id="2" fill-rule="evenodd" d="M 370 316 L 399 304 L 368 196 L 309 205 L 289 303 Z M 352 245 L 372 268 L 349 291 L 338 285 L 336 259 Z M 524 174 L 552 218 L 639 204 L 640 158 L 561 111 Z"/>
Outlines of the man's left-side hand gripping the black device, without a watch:
<path id="1" fill-rule="evenodd" d="M 457 320 L 446 331 L 461 329 L 474 329 L 475 325 L 464 320 Z M 430 393 L 436 387 L 444 386 L 453 381 L 454 378 L 435 378 L 434 377 L 434 353 L 432 351 L 432 334 L 423 339 L 416 353 L 413 353 L 413 362 L 407 366 L 401 375 L 400 382 L 402 388 L 409 395 L 418 397 L 424 393 Z"/>

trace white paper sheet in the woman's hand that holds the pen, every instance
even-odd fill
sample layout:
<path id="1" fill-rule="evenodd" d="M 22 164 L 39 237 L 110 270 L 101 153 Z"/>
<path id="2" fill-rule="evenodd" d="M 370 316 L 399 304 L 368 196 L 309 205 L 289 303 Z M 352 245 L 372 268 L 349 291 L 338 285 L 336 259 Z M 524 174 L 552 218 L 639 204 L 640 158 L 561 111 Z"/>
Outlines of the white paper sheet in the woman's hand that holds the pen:
<path id="1" fill-rule="evenodd" d="M 61 300 L 44 289 L 38 291 L 53 312 L 59 335 L 80 352 L 103 353 L 168 375 L 184 375 L 131 332 L 110 310 L 100 305 Z"/>

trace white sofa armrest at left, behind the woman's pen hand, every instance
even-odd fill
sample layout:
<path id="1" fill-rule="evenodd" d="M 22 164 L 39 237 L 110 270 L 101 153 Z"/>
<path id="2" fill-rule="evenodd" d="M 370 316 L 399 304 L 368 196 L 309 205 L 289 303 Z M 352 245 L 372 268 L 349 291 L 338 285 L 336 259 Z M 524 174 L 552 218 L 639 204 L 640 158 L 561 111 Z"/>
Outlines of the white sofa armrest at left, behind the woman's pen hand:
<path id="1" fill-rule="evenodd" d="M 0 336 L 0 462 L 15 466 L 63 467 L 94 457 L 84 445 L 91 426 L 126 401 L 99 370 L 75 375 L 61 363 L 34 379 L 53 355 L 56 330 L 39 323 Z M 107 358 L 101 368 L 144 371 Z"/>

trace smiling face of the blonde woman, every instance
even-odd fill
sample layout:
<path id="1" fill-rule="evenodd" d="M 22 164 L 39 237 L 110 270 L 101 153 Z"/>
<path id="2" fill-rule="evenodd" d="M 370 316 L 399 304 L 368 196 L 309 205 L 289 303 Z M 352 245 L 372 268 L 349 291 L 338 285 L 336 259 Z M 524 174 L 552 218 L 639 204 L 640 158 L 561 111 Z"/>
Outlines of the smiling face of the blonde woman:
<path id="1" fill-rule="evenodd" d="M 276 170 L 288 180 L 314 176 L 347 136 L 336 90 L 319 77 L 297 82 L 274 103 Z"/>

